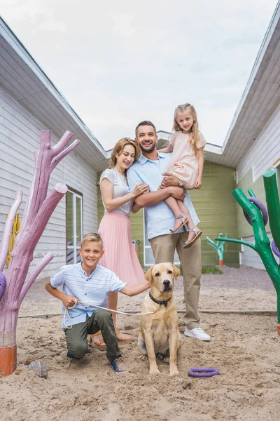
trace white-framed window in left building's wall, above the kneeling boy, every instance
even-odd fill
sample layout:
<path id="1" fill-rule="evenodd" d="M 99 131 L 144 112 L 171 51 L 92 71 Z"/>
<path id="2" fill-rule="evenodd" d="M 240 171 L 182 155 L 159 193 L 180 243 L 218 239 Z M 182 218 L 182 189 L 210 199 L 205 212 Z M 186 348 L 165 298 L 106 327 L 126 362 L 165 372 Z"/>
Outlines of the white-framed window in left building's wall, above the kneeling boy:
<path id="1" fill-rule="evenodd" d="M 80 262 L 80 241 L 83 237 L 83 196 L 68 190 L 66 193 L 66 264 Z"/>

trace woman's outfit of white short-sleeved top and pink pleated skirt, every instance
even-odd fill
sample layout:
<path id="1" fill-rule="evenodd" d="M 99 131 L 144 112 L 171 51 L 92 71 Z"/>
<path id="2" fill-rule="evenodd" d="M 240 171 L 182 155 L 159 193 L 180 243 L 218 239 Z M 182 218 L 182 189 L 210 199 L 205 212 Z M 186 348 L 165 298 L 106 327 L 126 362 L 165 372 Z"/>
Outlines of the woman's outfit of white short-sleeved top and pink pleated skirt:
<path id="1" fill-rule="evenodd" d="M 108 178 L 113 184 L 113 199 L 130 192 L 126 178 L 115 169 L 105 170 L 100 182 L 103 178 Z M 143 269 L 132 243 L 130 225 L 132 204 L 133 201 L 130 201 L 111 212 L 108 212 L 104 206 L 104 217 L 98 229 L 104 243 L 104 255 L 99 260 L 99 264 L 115 272 L 122 281 L 130 286 L 145 281 Z"/>

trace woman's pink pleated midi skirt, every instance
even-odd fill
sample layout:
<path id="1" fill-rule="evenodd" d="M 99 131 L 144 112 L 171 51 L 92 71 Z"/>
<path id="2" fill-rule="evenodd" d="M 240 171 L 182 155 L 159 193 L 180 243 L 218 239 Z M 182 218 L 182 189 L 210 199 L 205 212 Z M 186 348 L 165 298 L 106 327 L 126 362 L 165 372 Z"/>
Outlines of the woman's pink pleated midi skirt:
<path id="1" fill-rule="evenodd" d="M 99 264 L 115 272 L 127 285 L 144 282 L 144 272 L 132 243 L 130 218 L 120 213 L 106 212 L 98 234 L 104 244 L 104 255 Z"/>

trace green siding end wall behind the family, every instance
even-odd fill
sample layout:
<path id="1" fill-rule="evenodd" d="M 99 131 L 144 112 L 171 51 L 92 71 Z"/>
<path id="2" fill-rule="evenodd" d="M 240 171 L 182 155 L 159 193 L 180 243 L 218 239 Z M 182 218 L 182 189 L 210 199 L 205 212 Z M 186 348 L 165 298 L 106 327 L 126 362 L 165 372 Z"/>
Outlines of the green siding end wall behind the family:
<path id="1" fill-rule="evenodd" d="M 214 239 L 220 232 L 228 233 L 232 238 L 238 238 L 237 203 L 232 196 L 236 188 L 235 170 L 212 162 L 204 162 L 202 188 L 190 191 L 190 196 L 200 218 L 202 235 L 202 264 L 218 264 L 216 250 L 207 245 L 206 236 Z M 144 227 L 143 212 L 131 215 L 132 239 L 141 241 L 139 260 L 144 264 Z M 100 189 L 98 192 L 98 218 L 102 219 L 104 210 Z M 239 245 L 225 244 L 225 265 L 237 267 L 239 265 Z"/>

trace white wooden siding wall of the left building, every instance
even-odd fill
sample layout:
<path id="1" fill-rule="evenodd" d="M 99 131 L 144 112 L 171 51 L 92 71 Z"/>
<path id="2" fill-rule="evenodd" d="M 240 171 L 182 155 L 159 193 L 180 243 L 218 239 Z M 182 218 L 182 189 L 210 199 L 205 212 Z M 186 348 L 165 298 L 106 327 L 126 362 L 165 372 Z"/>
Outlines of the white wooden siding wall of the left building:
<path id="1" fill-rule="evenodd" d="M 40 131 L 51 130 L 34 118 L 18 102 L 0 88 L 0 238 L 6 215 L 15 198 L 15 191 L 22 189 L 22 215 L 34 173 L 34 152 L 39 148 Z M 67 127 L 65 127 L 65 131 Z M 62 133 L 63 134 L 63 133 Z M 57 138 L 52 136 L 52 144 Z M 59 163 L 50 178 L 50 189 L 63 182 L 83 194 L 83 232 L 97 229 L 97 173 L 85 163 L 78 149 Z M 52 276 L 66 264 L 66 208 L 65 198 L 60 201 L 36 247 L 30 270 L 47 253 L 55 257 L 39 276 Z"/>

